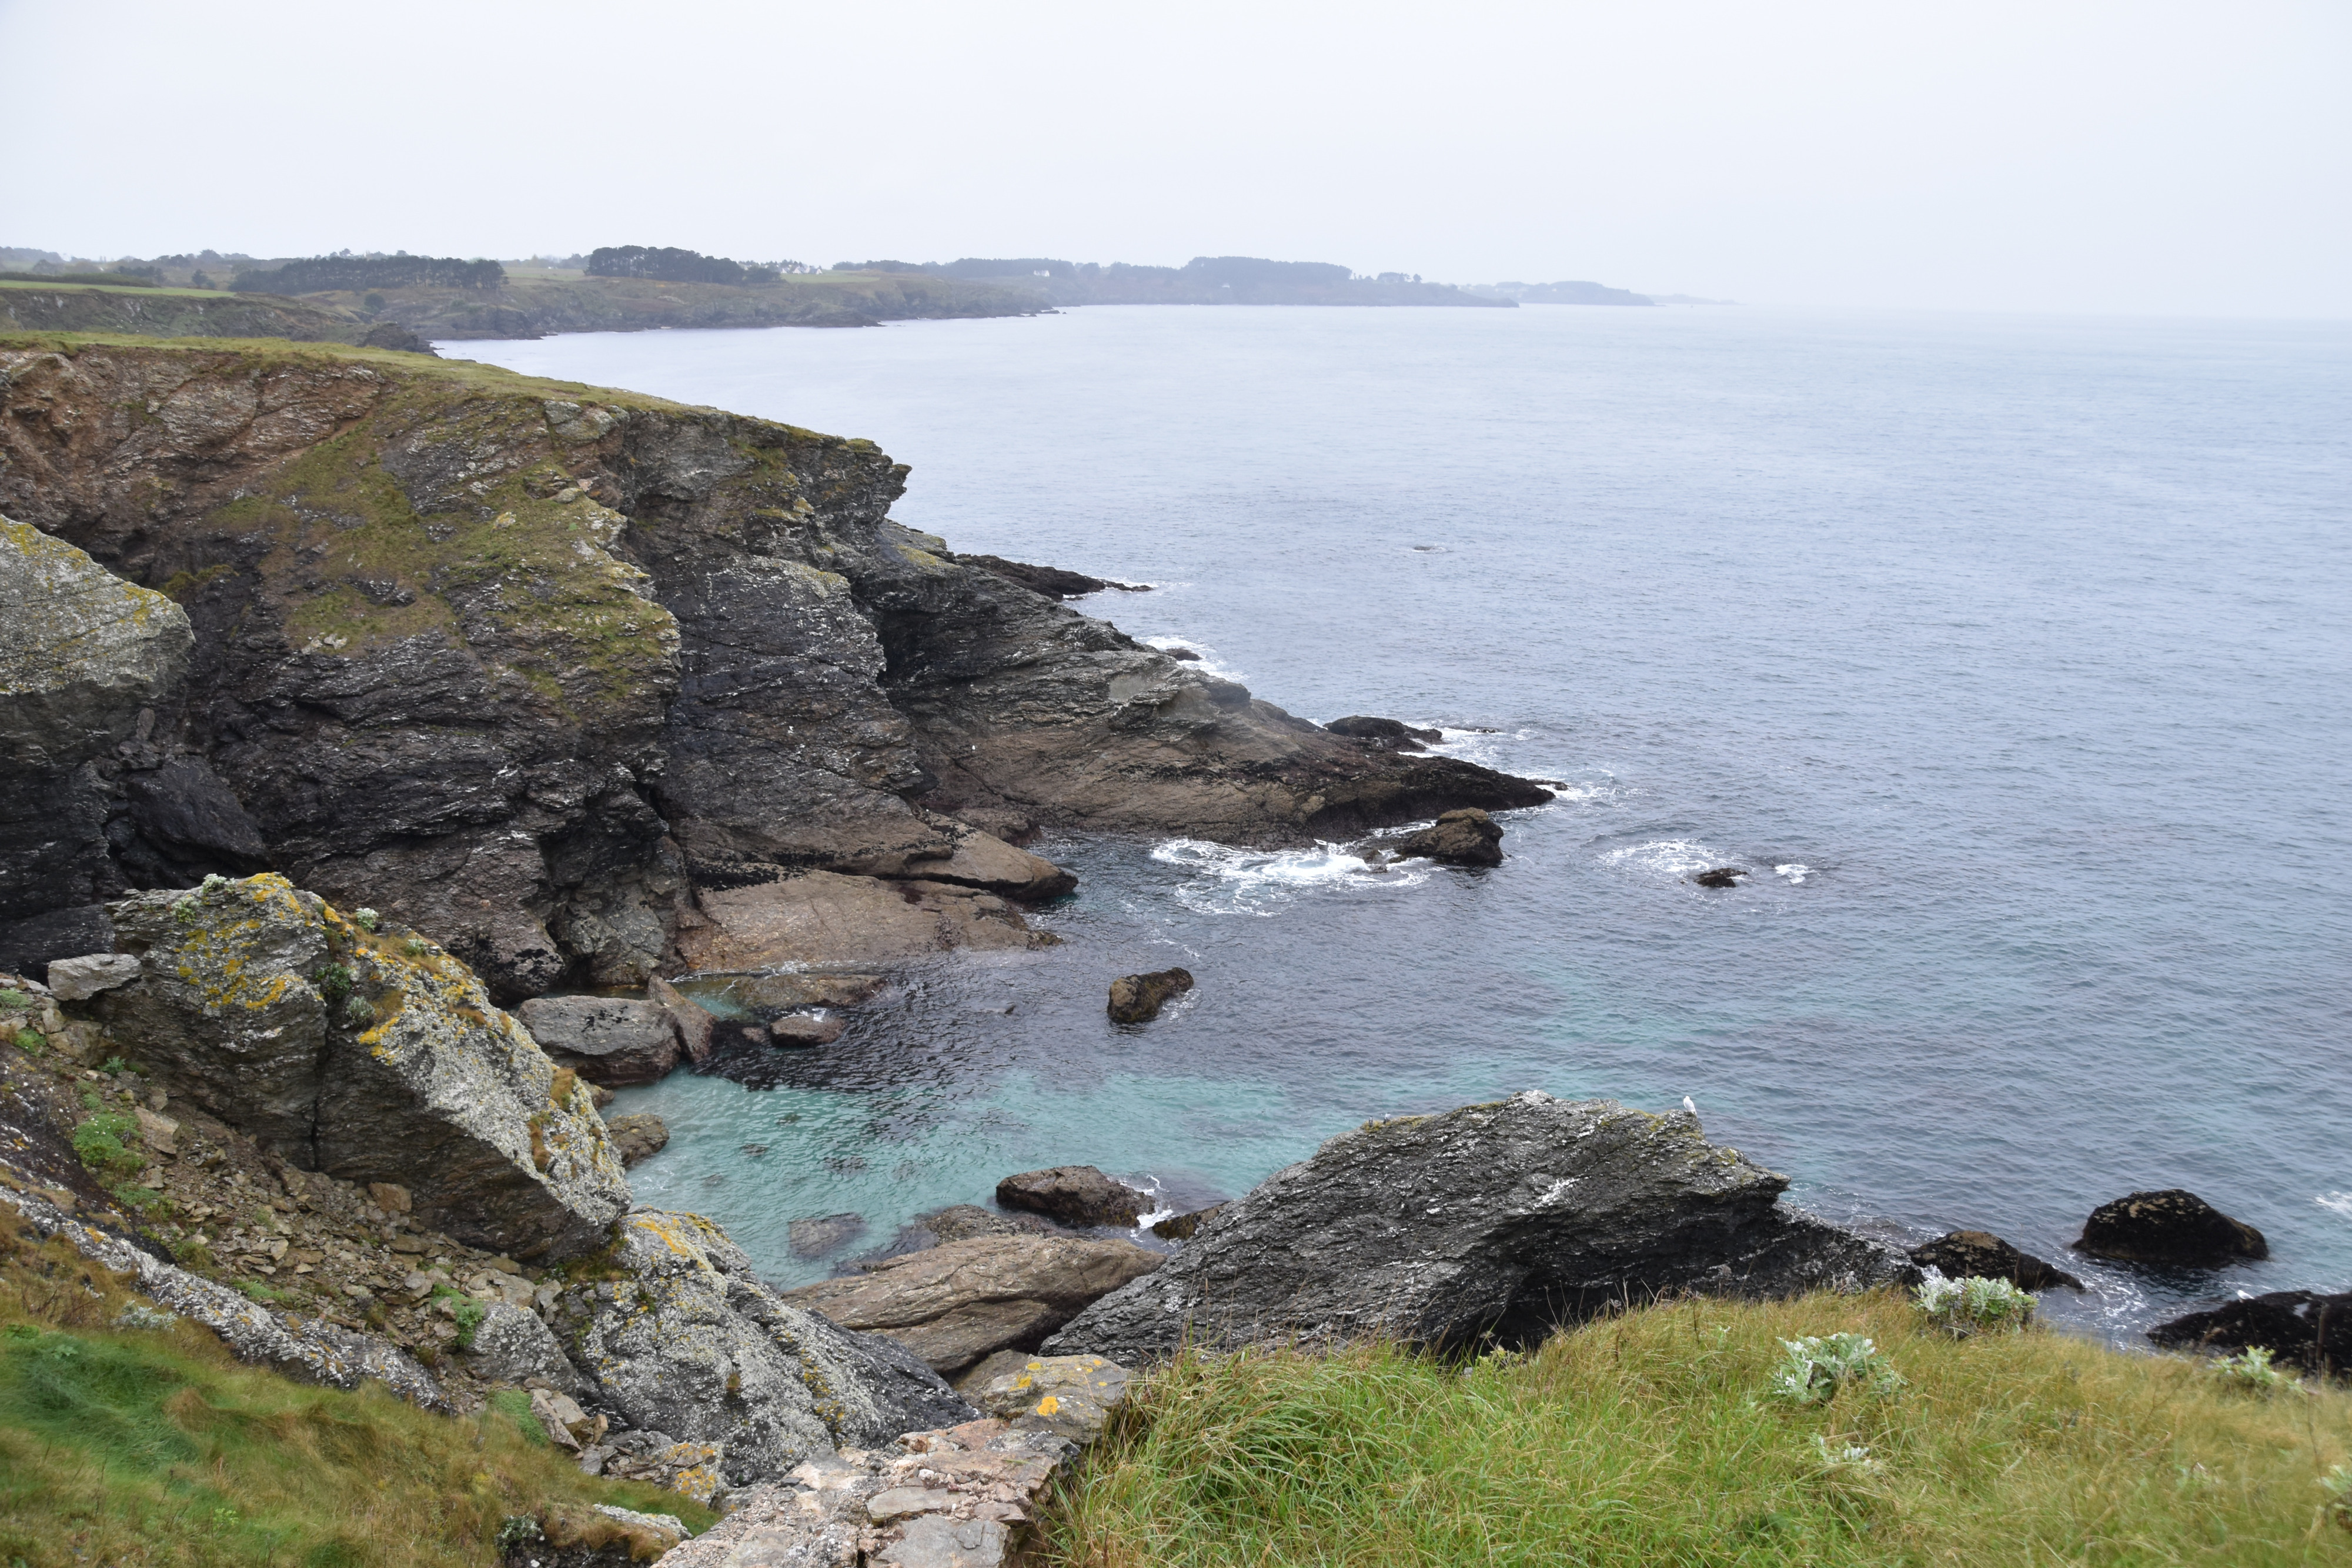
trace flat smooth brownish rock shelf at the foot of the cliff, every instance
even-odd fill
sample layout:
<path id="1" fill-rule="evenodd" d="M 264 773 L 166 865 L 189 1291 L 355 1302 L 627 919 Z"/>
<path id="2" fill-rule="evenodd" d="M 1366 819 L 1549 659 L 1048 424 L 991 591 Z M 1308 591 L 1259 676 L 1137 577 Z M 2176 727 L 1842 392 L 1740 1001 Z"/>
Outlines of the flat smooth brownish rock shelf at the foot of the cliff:
<path id="1" fill-rule="evenodd" d="M 804 872 L 706 891 L 701 907 L 710 924 L 677 933 L 677 952 L 694 969 L 875 964 L 950 947 L 1037 945 L 1011 903 L 946 882 Z"/>

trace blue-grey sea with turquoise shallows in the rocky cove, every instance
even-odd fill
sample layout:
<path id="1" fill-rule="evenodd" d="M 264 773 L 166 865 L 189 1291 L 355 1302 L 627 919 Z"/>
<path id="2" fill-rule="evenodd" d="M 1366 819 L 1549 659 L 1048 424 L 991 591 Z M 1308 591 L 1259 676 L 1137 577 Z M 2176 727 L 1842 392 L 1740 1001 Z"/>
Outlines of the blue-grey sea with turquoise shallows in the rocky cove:
<path id="1" fill-rule="evenodd" d="M 1237 1194 L 1367 1117 L 1672 1107 L 1828 1213 L 2065 1244 L 2192 1187 L 2352 1286 L 2352 327 L 1185 310 L 449 353 L 866 435 L 898 520 L 1294 712 L 1566 780 L 1491 872 L 1056 842 L 1065 947 L 948 959 L 746 1091 L 623 1095 L 779 1279 L 1089 1161 Z M 1686 882 L 1748 865 L 1736 891 Z M 1143 1030 L 1103 985 L 1185 964 Z M 795 1258 L 793 1218 L 868 1229 Z"/>

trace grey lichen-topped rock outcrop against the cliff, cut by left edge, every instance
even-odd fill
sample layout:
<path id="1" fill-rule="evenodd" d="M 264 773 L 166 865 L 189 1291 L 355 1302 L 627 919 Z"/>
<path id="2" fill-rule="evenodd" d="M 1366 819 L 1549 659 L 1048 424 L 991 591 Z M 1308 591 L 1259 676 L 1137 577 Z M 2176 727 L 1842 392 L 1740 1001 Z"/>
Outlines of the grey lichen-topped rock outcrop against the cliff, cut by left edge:
<path id="1" fill-rule="evenodd" d="M 0 969 L 108 943 L 122 891 L 106 785 L 85 764 L 127 741 L 188 665 L 188 614 L 61 538 L 0 517 Z"/>

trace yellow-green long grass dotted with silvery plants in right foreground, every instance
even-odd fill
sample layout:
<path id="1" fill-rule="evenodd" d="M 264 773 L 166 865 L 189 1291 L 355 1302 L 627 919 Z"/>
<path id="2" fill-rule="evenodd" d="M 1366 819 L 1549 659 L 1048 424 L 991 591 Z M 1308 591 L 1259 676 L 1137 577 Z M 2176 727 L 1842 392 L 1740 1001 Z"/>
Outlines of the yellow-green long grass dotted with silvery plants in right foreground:
<path id="1" fill-rule="evenodd" d="M 1780 1340 L 1830 1333 L 1903 1385 L 1776 1399 Z M 2352 1563 L 2321 1486 L 2347 1460 L 2345 1389 L 2234 1392 L 2187 1359 L 1816 1295 L 1651 1307 L 1472 1366 L 1185 1356 L 1047 1528 L 1087 1568 Z"/>

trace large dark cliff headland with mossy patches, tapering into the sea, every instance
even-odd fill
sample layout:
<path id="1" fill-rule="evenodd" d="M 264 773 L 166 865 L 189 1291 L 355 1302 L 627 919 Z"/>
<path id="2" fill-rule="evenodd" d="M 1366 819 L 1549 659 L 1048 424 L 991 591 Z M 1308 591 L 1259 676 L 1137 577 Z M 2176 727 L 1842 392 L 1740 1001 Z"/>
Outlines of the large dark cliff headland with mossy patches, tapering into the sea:
<path id="1" fill-rule="evenodd" d="M 99 762 L 96 896 L 282 870 L 510 999 L 642 983 L 699 889 L 1037 882 L 971 823 L 1301 842 L 1545 799 L 960 567 L 889 522 L 903 482 L 870 442 L 475 364 L 0 341 L 0 510 L 195 632 Z"/>

